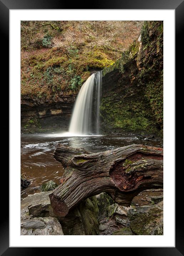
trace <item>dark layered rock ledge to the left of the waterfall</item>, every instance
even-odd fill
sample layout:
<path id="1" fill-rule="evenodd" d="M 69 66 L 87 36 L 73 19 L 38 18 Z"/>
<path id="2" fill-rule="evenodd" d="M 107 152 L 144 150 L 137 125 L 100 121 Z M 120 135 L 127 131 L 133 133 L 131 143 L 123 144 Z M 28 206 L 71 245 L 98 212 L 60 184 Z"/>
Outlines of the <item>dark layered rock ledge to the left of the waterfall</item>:
<path id="1" fill-rule="evenodd" d="M 21 132 L 67 130 L 76 94 L 48 100 L 21 98 Z"/>

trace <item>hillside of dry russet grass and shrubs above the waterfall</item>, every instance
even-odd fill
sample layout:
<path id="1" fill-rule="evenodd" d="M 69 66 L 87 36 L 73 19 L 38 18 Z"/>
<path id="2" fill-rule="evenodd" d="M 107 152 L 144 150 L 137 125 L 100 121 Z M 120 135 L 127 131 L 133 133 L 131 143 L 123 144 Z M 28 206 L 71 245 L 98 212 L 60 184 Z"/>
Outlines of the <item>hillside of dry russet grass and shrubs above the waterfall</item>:
<path id="1" fill-rule="evenodd" d="M 107 67 L 121 57 L 122 51 L 139 35 L 142 24 L 142 21 L 23 21 L 22 97 L 51 99 L 78 90 L 91 69 Z M 47 46 L 43 45 L 44 36 L 48 36 Z"/>

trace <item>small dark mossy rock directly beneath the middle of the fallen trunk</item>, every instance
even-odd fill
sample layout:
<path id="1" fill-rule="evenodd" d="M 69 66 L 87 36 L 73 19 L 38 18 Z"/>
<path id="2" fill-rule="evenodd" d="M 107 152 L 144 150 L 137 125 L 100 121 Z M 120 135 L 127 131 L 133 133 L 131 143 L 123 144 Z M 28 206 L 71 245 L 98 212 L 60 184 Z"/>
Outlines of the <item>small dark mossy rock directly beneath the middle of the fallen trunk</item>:
<path id="1" fill-rule="evenodd" d="M 99 209 L 98 220 L 101 221 L 108 217 L 109 206 L 114 203 L 112 198 L 107 193 L 101 193 L 96 196 Z"/>

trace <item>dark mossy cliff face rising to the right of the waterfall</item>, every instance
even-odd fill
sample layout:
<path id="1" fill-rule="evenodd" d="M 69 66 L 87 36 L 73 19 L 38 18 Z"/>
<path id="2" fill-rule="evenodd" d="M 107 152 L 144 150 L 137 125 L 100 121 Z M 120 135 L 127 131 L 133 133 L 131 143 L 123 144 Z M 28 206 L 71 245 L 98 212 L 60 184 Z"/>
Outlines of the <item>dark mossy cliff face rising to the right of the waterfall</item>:
<path id="1" fill-rule="evenodd" d="M 162 132 L 162 21 L 145 21 L 139 39 L 102 74 L 101 128 L 105 132 Z"/>

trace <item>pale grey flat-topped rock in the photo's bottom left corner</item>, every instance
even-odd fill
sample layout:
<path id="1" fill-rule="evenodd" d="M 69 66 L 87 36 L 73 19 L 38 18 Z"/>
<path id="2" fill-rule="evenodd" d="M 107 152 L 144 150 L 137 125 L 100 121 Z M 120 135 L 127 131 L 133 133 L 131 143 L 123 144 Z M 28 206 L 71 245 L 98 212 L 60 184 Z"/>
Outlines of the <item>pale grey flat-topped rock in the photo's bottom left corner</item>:
<path id="1" fill-rule="evenodd" d="M 62 227 L 53 217 L 32 218 L 21 221 L 21 235 L 63 235 Z"/>

